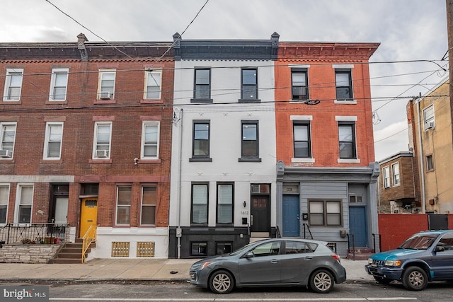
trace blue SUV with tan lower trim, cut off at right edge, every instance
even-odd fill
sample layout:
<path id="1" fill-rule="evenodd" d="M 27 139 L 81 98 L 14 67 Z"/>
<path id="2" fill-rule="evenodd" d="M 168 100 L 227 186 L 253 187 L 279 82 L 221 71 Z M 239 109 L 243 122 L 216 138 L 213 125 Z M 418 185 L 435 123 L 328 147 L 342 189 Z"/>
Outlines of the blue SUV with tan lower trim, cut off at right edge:
<path id="1" fill-rule="evenodd" d="M 453 279 L 453 230 L 416 233 L 396 250 L 368 259 L 365 270 L 376 281 L 401 281 L 406 289 L 421 291 L 428 281 Z"/>

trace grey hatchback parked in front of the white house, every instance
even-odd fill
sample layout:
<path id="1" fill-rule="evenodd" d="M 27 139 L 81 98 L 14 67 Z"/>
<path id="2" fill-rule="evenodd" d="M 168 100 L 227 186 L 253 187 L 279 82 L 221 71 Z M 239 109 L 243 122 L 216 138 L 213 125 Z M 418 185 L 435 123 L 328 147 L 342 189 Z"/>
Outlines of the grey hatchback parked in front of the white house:
<path id="1" fill-rule="evenodd" d="M 309 286 L 321 294 L 346 279 L 340 257 L 317 240 L 271 238 L 190 267 L 190 284 L 228 294 L 234 287 Z"/>

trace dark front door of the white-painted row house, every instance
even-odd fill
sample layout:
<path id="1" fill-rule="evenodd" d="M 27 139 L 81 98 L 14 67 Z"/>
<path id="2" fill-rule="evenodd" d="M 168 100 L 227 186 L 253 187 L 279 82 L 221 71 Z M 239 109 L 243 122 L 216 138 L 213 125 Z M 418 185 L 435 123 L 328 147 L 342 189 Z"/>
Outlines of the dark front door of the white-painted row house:
<path id="1" fill-rule="evenodd" d="M 270 212 L 268 196 L 252 196 L 251 204 L 251 236 L 270 236 Z"/>

